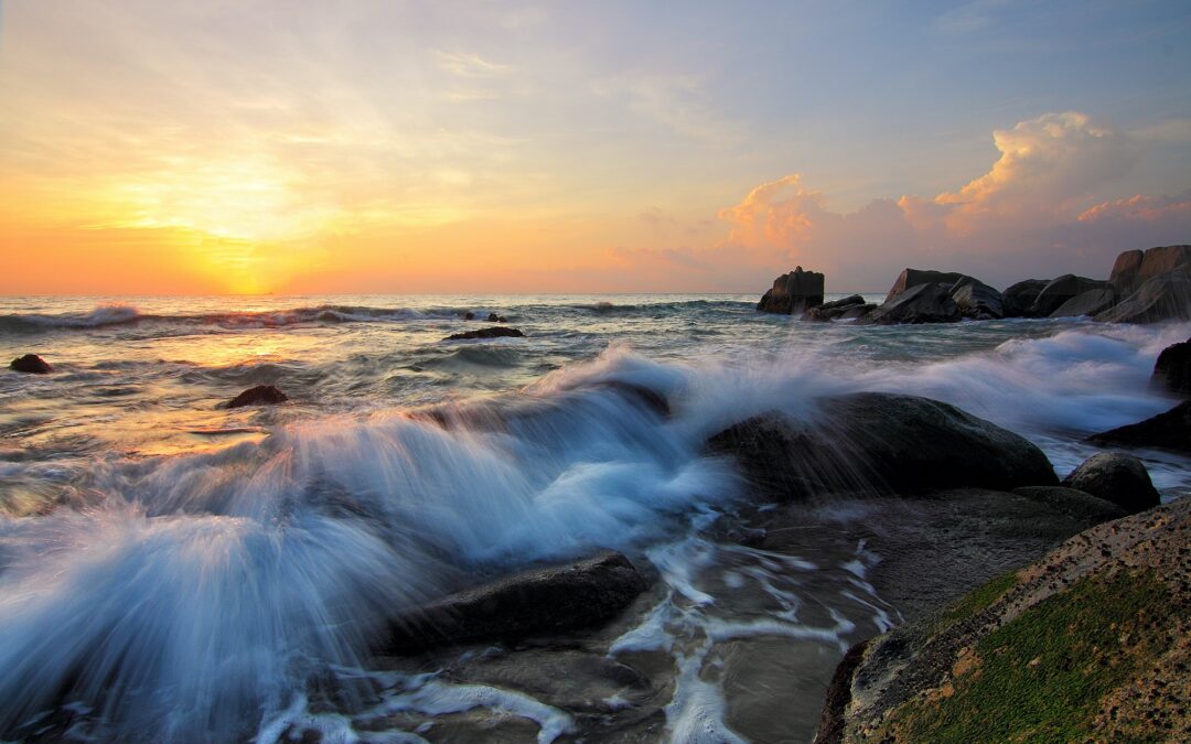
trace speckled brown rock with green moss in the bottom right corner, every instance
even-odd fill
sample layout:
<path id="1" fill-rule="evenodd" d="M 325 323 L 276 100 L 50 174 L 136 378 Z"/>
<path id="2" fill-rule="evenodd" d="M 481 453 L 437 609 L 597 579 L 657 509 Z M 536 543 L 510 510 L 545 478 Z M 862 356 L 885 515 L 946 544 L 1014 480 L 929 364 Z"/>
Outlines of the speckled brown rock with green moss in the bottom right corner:
<path id="1" fill-rule="evenodd" d="M 1191 499 L 854 646 L 816 742 L 1191 739 Z"/>

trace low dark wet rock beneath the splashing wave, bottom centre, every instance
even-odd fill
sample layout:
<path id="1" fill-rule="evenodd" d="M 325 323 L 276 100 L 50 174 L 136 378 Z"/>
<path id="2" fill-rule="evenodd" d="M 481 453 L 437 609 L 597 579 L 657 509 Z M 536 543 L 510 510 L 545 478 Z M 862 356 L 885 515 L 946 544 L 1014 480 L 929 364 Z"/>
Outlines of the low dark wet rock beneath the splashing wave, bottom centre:
<path id="1" fill-rule="evenodd" d="M 619 614 L 648 586 L 628 558 L 612 551 L 535 568 L 453 594 L 394 620 L 379 650 L 406 654 L 582 630 Z"/>

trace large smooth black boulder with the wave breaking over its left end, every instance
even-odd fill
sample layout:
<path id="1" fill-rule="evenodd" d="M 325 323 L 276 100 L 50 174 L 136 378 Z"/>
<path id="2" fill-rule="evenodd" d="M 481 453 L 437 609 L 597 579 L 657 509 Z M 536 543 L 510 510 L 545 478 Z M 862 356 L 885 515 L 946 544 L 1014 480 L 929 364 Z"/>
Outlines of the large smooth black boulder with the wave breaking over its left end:
<path id="1" fill-rule="evenodd" d="M 853 393 L 816 405 L 812 420 L 765 414 L 717 433 L 707 446 L 736 457 L 744 475 L 779 500 L 1058 484 L 1029 440 L 944 402 Z"/>

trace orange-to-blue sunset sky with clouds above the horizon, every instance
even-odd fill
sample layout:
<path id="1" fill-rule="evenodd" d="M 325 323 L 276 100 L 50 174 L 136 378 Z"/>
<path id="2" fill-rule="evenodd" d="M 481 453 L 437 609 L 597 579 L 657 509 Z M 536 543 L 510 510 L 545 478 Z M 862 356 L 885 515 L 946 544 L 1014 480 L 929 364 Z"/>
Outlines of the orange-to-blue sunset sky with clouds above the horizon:
<path id="1" fill-rule="evenodd" d="M 0 0 L 0 294 L 828 292 L 1191 243 L 1191 2 Z"/>

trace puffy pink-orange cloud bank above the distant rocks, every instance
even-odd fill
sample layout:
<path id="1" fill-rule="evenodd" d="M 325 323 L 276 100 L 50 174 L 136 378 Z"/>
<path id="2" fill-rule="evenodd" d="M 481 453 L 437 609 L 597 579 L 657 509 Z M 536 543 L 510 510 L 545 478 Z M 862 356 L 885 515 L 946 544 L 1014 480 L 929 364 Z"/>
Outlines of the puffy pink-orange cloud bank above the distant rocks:
<path id="1" fill-rule="evenodd" d="M 798 174 L 762 183 L 719 212 L 728 236 L 692 255 L 706 276 L 753 287 L 802 264 L 825 271 L 829 290 L 877 290 L 906 265 L 1002 286 L 1067 271 L 1106 276 L 1122 250 L 1191 239 L 1191 192 L 1092 204 L 1142 151 L 1110 124 L 1048 113 L 997 130 L 993 144 L 989 171 L 958 190 L 875 199 L 855 212 L 833 211 Z"/>

